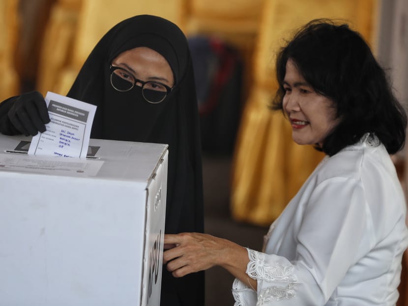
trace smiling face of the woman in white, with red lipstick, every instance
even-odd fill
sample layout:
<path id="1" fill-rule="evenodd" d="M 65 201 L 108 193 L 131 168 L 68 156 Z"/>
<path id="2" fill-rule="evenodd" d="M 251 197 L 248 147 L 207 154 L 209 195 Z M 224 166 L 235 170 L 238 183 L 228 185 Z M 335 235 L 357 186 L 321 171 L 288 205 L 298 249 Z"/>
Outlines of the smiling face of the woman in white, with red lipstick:
<path id="1" fill-rule="evenodd" d="M 336 118 L 335 103 L 317 93 L 291 59 L 286 63 L 283 87 L 283 109 L 291 122 L 294 142 L 322 146 L 326 136 L 340 122 Z"/>

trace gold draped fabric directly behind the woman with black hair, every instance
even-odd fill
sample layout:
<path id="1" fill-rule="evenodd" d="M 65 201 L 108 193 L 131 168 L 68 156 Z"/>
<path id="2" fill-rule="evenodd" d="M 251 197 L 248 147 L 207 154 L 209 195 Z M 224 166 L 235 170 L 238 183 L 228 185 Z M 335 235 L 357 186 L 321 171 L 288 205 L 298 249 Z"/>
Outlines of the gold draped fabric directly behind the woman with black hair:
<path id="1" fill-rule="evenodd" d="M 372 40 L 374 0 L 265 0 L 246 101 L 233 156 L 231 211 L 237 221 L 269 225 L 323 154 L 292 141 L 281 112 L 267 108 L 277 88 L 274 55 L 292 30 L 315 18 L 341 18 Z"/>

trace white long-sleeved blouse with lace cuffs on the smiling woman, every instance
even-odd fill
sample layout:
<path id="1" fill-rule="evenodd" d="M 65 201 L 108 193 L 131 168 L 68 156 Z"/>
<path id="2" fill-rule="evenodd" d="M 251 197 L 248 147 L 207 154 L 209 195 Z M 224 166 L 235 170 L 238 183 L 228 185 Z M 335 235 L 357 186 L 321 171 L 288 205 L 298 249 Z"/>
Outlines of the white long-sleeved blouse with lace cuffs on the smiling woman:
<path id="1" fill-rule="evenodd" d="M 258 291 L 235 279 L 234 306 L 395 305 L 405 218 L 401 184 L 377 138 L 326 156 L 272 223 L 262 252 L 248 249 L 246 273 Z"/>

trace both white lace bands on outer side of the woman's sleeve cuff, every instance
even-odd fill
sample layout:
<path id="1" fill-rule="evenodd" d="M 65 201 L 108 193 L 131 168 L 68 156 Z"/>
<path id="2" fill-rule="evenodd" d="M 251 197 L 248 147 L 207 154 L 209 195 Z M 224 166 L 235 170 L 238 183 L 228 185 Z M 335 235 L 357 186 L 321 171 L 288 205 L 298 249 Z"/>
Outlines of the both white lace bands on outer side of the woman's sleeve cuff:
<path id="1" fill-rule="evenodd" d="M 280 263 L 270 261 L 264 253 L 247 248 L 249 263 L 246 273 L 253 279 L 281 283 L 281 286 L 270 286 L 258 290 L 257 306 L 263 306 L 270 301 L 280 301 L 295 297 L 298 278 L 290 262 Z"/>

